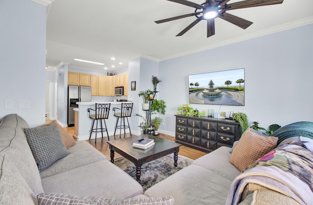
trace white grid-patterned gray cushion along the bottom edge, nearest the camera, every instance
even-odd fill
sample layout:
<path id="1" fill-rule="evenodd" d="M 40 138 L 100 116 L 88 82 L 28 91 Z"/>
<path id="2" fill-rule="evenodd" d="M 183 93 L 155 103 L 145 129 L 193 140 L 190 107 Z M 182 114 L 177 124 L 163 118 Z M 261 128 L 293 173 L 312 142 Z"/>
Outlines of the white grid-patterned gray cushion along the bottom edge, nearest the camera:
<path id="1" fill-rule="evenodd" d="M 80 197 L 64 194 L 43 193 L 37 196 L 38 205 L 173 205 L 173 197 L 159 198 L 105 198 L 105 197 Z"/>

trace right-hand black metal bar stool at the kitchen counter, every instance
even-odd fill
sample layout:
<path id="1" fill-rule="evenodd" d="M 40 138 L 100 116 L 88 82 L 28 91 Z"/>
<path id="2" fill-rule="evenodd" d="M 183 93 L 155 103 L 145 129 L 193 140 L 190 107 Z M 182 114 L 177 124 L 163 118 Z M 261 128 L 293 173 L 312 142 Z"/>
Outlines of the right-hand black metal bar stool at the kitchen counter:
<path id="1" fill-rule="evenodd" d="M 116 129 L 120 129 L 119 130 L 119 138 L 121 138 L 122 129 L 124 129 L 124 134 L 125 134 L 126 128 L 129 129 L 129 132 L 131 133 L 131 136 L 132 136 L 131 128 L 130 128 L 129 122 L 128 122 L 128 117 L 131 117 L 132 110 L 133 110 L 133 102 L 132 103 L 122 103 L 121 108 L 113 107 L 114 116 L 117 117 L 114 135 L 115 135 Z M 127 125 L 125 124 L 125 118 L 127 120 Z M 120 121 L 120 124 L 117 125 L 119 119 L 121 119 L 121 121 Z"/>

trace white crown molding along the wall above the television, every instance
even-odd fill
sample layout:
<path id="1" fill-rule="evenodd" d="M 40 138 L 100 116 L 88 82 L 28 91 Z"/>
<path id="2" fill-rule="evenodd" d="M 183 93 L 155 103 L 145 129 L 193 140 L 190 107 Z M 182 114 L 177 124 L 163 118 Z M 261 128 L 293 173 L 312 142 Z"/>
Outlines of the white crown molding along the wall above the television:
<path id="1" fill-rule="evenodd" d="M 178 57 L 182 57 L 182 56 L 186 56 L 186 55 L 190 55 L 190 54 L 194 54 L 194 53 L 199 53 L 199 52 L 202 52 L 202 51 L 206 51 L 206 50 L 222 47 L 222 46 L 225 46 L 225 45 L 230 45 L 230 44 L 241 42 L 241 41 L 255 39 L 255 38 L 258 38 L 258 37 L 262 37 L 262 36 L 266 36 L 266 35 L 269 35 L 269 34 L 273 34 L 273 33 L 281 32 L 281 31 L 289 30 L 289 29 L 292 29 L 292 28 L 308 25 L 308 24 L 311 24 L 311 23 L 313 23 L 313 17 L 301 19 L 301 20 L 298 20 L 298 21 L 291 21 L 289 23 L 285 23 L 285 24 L 282 24 L 282 25 L 279 25 L 279 26 L 276 26 L 276 27 L 272 27 L 272 28 L 269 28 L 269 29 L 265 29 L 265 30 L 262 30 L 262 31 L 259 31 L 259 32 L 251 33 L 251 34 L 248 34 L 246 36 L 241 36 L 239 38 L 229 39 L 229 40 L 222 41 L 222 42 L 219 42 L 219 43 L 210 44 L 209 46 L 204 46 L 204 47 L 201 47 L 201 48 L 189 50 L 187 52 L 182 52 L 182 53 L 179 53 L 179 54 L 176 54 L 176 55 L 173 55 L 173 56 L 169 56 L 168 58 L 159 59 L 159 61 L 162 62 L 162 61 L 166 61 L 166 60 L 171 60 L 171 59 L 174 59 L 174 58 L 178 58 Z"/>

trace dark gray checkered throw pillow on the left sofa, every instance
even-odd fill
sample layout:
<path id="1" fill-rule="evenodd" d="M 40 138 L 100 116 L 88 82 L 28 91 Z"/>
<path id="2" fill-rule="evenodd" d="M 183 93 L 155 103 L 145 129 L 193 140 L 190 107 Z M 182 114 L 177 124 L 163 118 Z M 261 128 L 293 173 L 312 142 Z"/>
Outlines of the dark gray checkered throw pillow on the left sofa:
<path id="1" fill-rule="evenodd" d="M 56 124 L 24 128 L 24 132 L 39 171 L 69 154 Z"/>

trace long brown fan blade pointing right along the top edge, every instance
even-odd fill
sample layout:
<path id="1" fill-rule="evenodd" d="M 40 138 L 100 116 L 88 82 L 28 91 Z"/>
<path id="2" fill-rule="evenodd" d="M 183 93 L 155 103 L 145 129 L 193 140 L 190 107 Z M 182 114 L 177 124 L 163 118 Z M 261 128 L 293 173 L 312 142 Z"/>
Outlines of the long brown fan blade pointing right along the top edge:
<path id="1" fill-rule="evenodd" d="M 244 0 L 235 3 L 227 4 L 227 8 L 222 9 L 223 11 L 233 10 L 233 9 L 241 9 L 241 8 L 249 8 L 256 6 L 266 6 L 282 3 L 284 0 Z"/>

